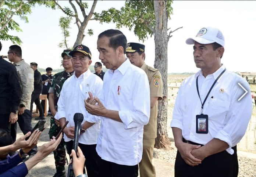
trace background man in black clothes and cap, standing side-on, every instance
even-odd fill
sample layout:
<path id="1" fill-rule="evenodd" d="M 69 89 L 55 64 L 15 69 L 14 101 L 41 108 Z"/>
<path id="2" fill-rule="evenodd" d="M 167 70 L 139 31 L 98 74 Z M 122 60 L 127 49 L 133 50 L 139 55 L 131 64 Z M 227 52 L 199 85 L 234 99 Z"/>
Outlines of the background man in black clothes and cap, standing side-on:
<path id="1" fill-rule="evenodd" d="M 41 73 L 37 69 L 38 64 L 36 62 L 30 63 L 30 66 L 34 70 L 34 91 L 32 92 L 32 95 L 31 95 L 30 112 L 32 113 L 33 103 L 35 102 L 36 106 L 38 107 L 39 113 L 40 113 L 39 117 L 35 118 L 35 120 L 45 120 L 43 107 L 40 103 L 40 98 L 39 98 L 40 94 L 42 93 L 42 89 L 43 89 Z"/>

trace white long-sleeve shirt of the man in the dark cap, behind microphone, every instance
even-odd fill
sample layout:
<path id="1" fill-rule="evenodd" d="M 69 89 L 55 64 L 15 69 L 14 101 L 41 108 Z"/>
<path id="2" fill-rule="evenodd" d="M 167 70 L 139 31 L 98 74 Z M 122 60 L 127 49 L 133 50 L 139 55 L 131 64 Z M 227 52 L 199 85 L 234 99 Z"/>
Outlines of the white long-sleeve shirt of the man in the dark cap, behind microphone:
<path id="1" fill-rule="evenodd" d="M 93 96 L 99 97 L 103 87 L 103 82 L 100 77 L 91 73 L 88 69 L 85 73 L 77 76 L 72 75 L 68 78 L 64 84 L 60 93 L 60 98 L 58 100 L 58 112 L 54 116 L 57 120 L 60 118 L 66 118 L 69 121 L 67 127 L 74 126 L 74 114 L 82 113 L 83 122 L 88 120 L 88 122 L 95 123 L 93 126 L 88 128 L 85 133 L 81 133 L 79 136 L 79 142 L 82 144 L 96 144 L 97 137 L 99 134 L 99 122 L 96 116 L 90 115 L 85 110 L 85 103 L 89 97 L 88 92 L 92 92 Z M 72 140 L 64 134 L 64 140 L 66 142 Z"/>

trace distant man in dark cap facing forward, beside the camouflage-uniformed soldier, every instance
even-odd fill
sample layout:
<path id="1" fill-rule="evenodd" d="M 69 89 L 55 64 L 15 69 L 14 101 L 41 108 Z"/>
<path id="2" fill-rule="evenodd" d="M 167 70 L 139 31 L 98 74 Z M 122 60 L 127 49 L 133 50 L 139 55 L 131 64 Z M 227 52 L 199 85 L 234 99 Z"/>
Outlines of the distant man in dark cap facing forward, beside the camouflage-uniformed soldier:
<path id="1" fill-rule="evenodd" d="M 43 90 L 42 94 L 47 95 L 47 100 L 49 101 L 49 89 L 51 87 L 51 82 L 53 81 L 53 75 L 51 72 L 53 71 L 52 68 L 48 67 L 45 69 L 46 74 L 42 75 L 42 83 L 43 83 Z M 42 107 L 43 107 L 43 112 L 45 112 L 45 100 L 41 101 Z M 48 108 L 48 115 L 51 114 L 50 107 Z"/>

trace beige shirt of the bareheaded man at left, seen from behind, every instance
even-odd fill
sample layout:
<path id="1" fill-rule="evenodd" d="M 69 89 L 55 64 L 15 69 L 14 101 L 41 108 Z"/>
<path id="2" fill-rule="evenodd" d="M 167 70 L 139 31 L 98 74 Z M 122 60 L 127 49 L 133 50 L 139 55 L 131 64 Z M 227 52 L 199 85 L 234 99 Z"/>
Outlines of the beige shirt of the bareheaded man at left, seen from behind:
<path id="1" fill-rule="evenodd" d="M 24 59 L 14 64 L 17 69 L 19 84 L 21 86 L 21 101 L 25 109 L 30 110 L 31 94 L 34 90 L 34 70 Z"/>

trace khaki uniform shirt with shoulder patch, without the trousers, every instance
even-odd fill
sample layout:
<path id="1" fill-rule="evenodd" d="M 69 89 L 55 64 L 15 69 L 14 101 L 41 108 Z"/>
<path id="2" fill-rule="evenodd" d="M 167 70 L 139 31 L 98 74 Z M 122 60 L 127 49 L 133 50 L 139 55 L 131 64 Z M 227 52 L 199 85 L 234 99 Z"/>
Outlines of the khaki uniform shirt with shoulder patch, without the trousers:
<path id="1" fill-rule="evenodd" d="M 159 97 L 158 100 L 163 99 L 163 81 L 161 73 L 158 69 L 147 66 L 146 63 L 141 66 L 149 79 L 150 97 Z M 157 123 L 157 108 L 158 102 L 150 109 L 149 123 L 144 126 L 143 139 L 156 138 L 156 123 Z"/>

